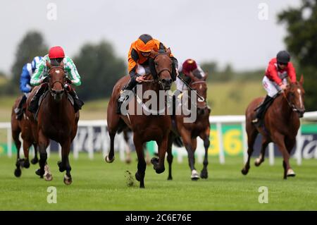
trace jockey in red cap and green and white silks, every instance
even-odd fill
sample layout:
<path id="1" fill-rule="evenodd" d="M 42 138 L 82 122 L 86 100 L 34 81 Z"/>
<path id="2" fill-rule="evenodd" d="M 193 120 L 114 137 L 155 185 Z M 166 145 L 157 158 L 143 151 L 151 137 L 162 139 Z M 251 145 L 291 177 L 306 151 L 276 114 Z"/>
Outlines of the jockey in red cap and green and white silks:
<path id="1" fill-rule="evenodd" d="M 47 83 L 45 83 L 45 78 L 49 75 L 49 69 L 46 66 L 46 61 L 49 61 L 51 66 L 59 66 L 61 61 L 64 64 L 64 70 L 66 71 L 66 77 L 71 81 L 72 85 L 79 86 L 81 85 L 80 75 L 77 72 L 77 68 L 73 63 L 73 60 L 70 57 L 64 54 L 64 51 L 61 47 L 51 47 L 49 49 L 49 54 L 44 56 L 39 62 L 37 68 L 35 69 L 35 74 L 32 76 L 30 83 L 32 86 L 41 85 L 37 93 L 30 102 L 29 111 L 35 113 L 37 111 L 39 97 L 44 94 Z M 84 104 L 78 97 L 75 90 L 68 84 L 64 86 L 64 89 L 73 97 L 74 99 L 74 109 L 77 112 L 81 109 Z"/>

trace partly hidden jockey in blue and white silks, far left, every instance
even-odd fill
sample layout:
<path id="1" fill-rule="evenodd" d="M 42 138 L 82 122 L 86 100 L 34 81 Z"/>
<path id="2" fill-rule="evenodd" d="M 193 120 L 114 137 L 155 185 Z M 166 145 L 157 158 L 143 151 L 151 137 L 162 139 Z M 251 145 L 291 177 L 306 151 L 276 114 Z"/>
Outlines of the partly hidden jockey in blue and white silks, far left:
<path id="1" fill-rule="evenodd" d="M 35 56 L 31 63 L 25 63 L 22 68 L 22 73 L 20 75 L 20 91 L 24 93 L 22 99 L 20 100 L 18 107 L 14 109 L 16 118 L 20 119 L 23 115 L 23 104 L 25 104 L 27 96 L 30 94 L 32 87 L 30 84 L 31 77 L 35 72 L 39 61 L 41 61 L 42 56 Z"/>

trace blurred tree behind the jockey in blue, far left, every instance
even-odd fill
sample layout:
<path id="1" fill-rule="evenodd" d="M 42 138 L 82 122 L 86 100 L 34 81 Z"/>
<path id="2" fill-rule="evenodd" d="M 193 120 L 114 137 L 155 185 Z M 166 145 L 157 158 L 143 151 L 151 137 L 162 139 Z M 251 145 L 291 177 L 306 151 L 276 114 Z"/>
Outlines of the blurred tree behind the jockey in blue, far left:
<path id="1" fill-rule="evenodd" d="M 47 46 L 40 32 L 30 31 L 23 37 L 15 52 L 15 62 L 11 68 L 11 92 L 18 92 L 19 80 L 25 63 L 30 63 L 35 56 L 47 54 Z"/>

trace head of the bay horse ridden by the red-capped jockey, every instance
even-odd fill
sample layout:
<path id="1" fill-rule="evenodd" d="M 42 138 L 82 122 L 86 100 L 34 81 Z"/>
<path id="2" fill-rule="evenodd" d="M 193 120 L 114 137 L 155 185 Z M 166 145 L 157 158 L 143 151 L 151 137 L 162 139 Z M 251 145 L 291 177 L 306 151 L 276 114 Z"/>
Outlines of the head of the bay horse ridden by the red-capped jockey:
<path id="1" fill-rule="evenodd" d="M 49 61 L 46 61 L 46 66 L 49 68 L 49 92 L 51 92 L 54 100 L 59 102 L 63 97 L 64 85 L 66 83 L 64 63 L 61 61 L 59 66 L 51 66 Z"/>

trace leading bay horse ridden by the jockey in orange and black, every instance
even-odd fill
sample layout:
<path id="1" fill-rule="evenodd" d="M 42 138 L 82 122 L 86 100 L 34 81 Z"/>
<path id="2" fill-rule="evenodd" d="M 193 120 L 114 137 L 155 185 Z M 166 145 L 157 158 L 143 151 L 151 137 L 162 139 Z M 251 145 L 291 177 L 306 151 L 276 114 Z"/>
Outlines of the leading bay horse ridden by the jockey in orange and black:
<path id="1" fill-rule="evenodd" d="M 142 94 L 147 90 L 153 90 L 158 97 L 158 102 L 164 102 L 164 99 L 159 97 L 160 90 L 170 90 L 170 85 L 173 82 L 172 76 L 172 60 L 170 59 L 170 49 L 167 49 L 164 52 L 151 51 L 149 56 L 152 59 L 152 69 L 151 74 L 147 75 L 147 79 L 143 81 L 142 84 L 137 86 L 142 86 Z M 125 126 L 128 126 L 133 132 L 133 142 L 135 144 L 135 150 L 137 152 L 137 172 L 135 178 L 139 181 L 139 188 L 144 188 L 144 176 L 146 169 L 146 162 L 144 160 L 144 143 L 150 140 L 155 140 L 159 147 L 159 159 L 156 157 L 151 159 L 151 163 L 154 165 L 154 169 L 157 174 L 163 173 L 165 170 L 164 159 L 166 155 L 166 148 L 168 142 L 168 134 L 170 132 L 171 118 L 170 115 L 166 112 L 160 115 L 146 115 L 146 114 L 116 114 L 117 99 L 120 90 L 123 86 L 128 83 L 130 77 L 127 75 L 116 83 L 113 87 L 113 92 L 111 99 L 108 103 L 107 108 L 107 123 L 108 123 L 108 133 L 110 135 L 111 147 L 110 152 L 106 156 L 105 160 L 108 163 L 113 162 L 114 160 L 114 138 L 117 131 L 123 130 Z M 131 106 L 140 107 L 140 104 L 137 102 L 137 97 L 131 97 L 129 99 L 129 109 Z M 143 99 L 141 100 L 143 102 Z M 158 103 L 159 104 L 159 103 Z M 160 109 L 158 107 L 158 109 Z"/>

